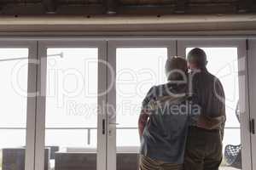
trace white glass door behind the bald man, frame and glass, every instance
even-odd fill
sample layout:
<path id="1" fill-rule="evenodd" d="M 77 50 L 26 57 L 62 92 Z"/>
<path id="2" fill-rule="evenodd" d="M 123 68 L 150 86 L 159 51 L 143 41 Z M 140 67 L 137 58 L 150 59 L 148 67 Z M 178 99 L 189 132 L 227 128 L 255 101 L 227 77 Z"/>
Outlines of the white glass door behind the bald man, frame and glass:
<path id="1" fill-rule="evenodd" d="M 250 116 L 247 97 L 246 40 L 183 39 L 177 41 L 177 54 L 180 56 L 185 57 L 192 48 L 205 50 L 208 60 L 207 70 L 218 77 L 224 86 L 227 121 L 224 129 L 223 152 L 231 151 L 234 156 L 224 156 L 221 168 L 234 166 L 234 163 L 241 164 L 239 163 L 241 159 L 242 169 L 250 170 L 252 167 L 248 123 Z M 236 111 L 240 112 L 240 116 L 236 116 Z M 240 144 L 241 158 L 236 157 Z M 237 147 L 234 148 L 235 146 Z M 227 157 L 231 157 L 231 160 L 226 159 Z"/>

